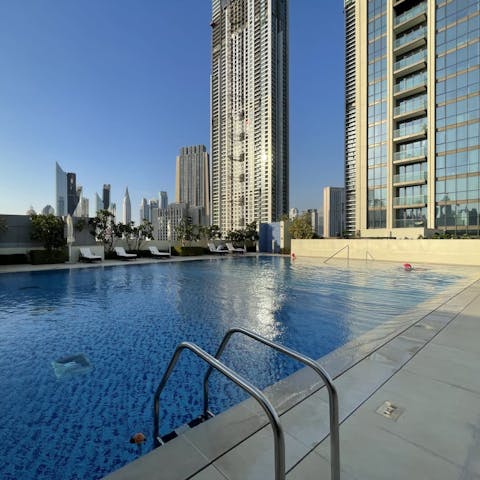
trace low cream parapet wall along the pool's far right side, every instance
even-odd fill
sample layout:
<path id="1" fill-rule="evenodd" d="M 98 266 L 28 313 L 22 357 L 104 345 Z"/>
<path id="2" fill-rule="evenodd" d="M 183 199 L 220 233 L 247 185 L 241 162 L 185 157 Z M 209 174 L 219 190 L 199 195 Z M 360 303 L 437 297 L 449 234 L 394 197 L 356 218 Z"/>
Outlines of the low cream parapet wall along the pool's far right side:
<path id="1" fill-rule="evenodd" d="M 343 250 L 342 250 L 343 249 Z M 402 263 L 480 266 L 479 239 L 321 239 L 292 240 L 296 257 L 351 258 Z"/>

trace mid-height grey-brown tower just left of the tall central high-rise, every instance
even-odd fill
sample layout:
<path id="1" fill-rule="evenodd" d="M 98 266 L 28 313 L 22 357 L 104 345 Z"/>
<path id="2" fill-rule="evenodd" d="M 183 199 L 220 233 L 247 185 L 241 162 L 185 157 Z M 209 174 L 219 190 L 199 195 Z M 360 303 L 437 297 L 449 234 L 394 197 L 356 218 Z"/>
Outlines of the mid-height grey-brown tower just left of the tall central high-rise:
<path id="1" fill-rule="evenodd" d="M 176 203 L 210 212 L 210 168 L 205 145 L 183 147 L 177 156 Z"/>

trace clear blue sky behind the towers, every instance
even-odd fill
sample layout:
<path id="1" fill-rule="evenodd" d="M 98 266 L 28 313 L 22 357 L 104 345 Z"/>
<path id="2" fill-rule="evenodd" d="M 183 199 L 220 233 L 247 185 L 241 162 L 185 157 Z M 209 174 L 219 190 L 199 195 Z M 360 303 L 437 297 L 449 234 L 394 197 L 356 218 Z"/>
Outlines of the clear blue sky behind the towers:
<path id="1" fill-rule="evenodd" d="M 132 214 L 209 145 L 210 0 L 0 0 L 0 214 L 55 207 L 55 162 Z M 343 0 L 290 0 L 290 206 L 343 185 Z"/>

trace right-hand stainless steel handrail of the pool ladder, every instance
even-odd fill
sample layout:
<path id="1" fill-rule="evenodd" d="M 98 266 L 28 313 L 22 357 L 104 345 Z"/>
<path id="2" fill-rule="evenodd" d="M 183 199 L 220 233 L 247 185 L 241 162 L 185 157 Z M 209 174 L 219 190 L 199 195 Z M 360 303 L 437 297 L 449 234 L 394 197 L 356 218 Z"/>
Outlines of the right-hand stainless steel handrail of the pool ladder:
<path id="1" fill-rule="evenodd" d="M 292 350 L 288 347 L 284 347 L 283 345 L 279 345 L 278 343 L 272 342 L 260 335 L 251 332 L 245 328 L 232 328 L 227 331 L 225 336 L 223 337 L 222 343 L 218 347 L 217 353 L 215 354 L 215 358 L 220 358 L 225 347 L 227 346 L 230 338 L 234 333 L 241 333 L 246 335 L 254 340 L 257 340 L 268 347 L 271 347 L 278 352 L 284 353 L 285 355 L 298 360 L 299 362 L 307 365 L 308 367 L 312 368 L 323 380 L 327 387 L 328 391 L 328 399 L 329 399 L 329 410 L 330 410 L 330 470 L 331 470 L 331 479 L 332 480 L 340 480 L 340 436 L 339 436 L 339 427 L 338 427 L 338 394 L 335 386 L 333 385 L 332 379 L 330 375 L 323 369 L 321 365 L 317 362 L 312 360 L 305 355 L 302 355 L 295 350 Z M 209 367 L 207 373 L 205 374 L 205 378 L 203 380 L 203 412 L 204 415 L 208 413 L 208 378 L 212 373 L 212 367 Z"/>

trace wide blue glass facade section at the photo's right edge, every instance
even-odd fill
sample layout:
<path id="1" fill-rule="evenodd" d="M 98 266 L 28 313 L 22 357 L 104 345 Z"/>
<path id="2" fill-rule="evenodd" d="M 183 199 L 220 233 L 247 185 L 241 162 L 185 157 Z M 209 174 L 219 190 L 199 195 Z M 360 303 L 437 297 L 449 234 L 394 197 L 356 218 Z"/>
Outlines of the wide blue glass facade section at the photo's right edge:
<path id="1" fill-rule="evenodd" d="M 478 233 L 480 4 L 436 2 L 435 227 Z"/>

